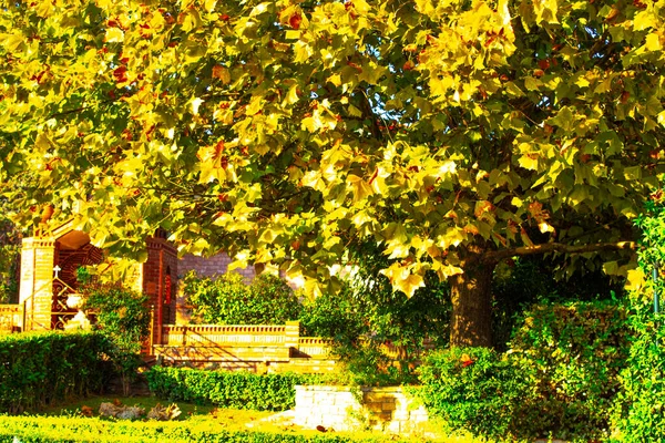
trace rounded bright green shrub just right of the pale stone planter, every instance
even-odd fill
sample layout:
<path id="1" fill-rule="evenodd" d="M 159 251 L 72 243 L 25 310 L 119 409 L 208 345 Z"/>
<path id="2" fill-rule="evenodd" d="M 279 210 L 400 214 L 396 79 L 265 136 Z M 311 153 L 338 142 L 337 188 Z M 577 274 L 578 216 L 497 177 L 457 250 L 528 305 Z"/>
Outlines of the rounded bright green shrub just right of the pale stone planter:
<path id="1" fill-rule="evenodd" d="M 428 412 L 452 430 L 477 436 L 532 436 L 533 374 L 511 356 L 487 348 L 452 348 L 430 353 L 419 369 L 418 390 Z"/>

